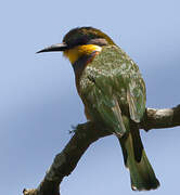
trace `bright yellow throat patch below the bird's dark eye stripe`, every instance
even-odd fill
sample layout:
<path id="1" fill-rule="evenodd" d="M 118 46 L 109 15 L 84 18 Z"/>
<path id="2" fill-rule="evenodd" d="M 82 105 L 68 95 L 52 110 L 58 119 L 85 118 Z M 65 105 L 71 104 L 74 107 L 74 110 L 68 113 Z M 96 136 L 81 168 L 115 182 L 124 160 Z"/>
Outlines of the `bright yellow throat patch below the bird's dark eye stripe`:
<path id="1" fill-rule="evenodd" d="M 92 52 L 101 52 L 102 47 L 97 44 L 82 44 L 64 51 L 64 55 L 74 64 L 82 55 L 90 55 Z"/>

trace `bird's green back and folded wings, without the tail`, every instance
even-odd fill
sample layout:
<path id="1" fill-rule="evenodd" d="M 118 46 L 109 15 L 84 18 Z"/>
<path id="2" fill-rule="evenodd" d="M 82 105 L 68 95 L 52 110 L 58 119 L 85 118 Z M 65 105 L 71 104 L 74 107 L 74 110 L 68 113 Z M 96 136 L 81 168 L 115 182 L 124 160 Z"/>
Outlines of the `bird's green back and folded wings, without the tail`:
<path id="1" fill-rule="evenodd" d="M 138 66 L 116 46 L 104 47 L 86 67 L 81 98 L 88 112 L 124 134 L 123 116 L 139 122 L 145 110 L 145 87 Z"/>

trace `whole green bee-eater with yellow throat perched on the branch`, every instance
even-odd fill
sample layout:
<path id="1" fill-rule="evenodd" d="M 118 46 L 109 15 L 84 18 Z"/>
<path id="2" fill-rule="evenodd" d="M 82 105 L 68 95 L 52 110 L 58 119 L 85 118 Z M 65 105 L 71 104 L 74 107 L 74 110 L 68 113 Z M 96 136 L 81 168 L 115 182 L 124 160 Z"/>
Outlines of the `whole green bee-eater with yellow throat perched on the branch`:
<path id="1" fill-rule="evenodd" d="M 62 43 L 37 53 L 63 52 L 73 66 L 87 120 L 104 125 L 117 136 L 133 191 L 150 191 L 159 181 L 146 157 L 139 130 L 146 89 L 138 65 L 102 30 L 70 29 Z"/>

